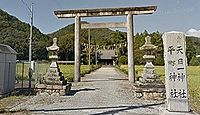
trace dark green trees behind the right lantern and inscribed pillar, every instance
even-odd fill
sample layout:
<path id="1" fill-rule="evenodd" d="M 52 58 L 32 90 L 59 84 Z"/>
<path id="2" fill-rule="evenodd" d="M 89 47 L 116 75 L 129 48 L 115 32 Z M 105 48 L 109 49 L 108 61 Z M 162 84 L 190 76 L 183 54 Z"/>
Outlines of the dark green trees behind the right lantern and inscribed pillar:
<path id="1" fill-rule="evenodd" d="M 144 64 L 144 60 L 142 56 L 144 53 L 140 51 L 139 47 L 141 47 L 145 40 L 144 38 L 149 35 L 151 36 L 151 43 L 153 45 L 158 46 L 157 51 L 156 51 L 156 59 L 154 61 L 154 65 L 164 65 L 164 50 L 163 50 L 163 41 L 162 41 L 162 33 L 153 32 L 148 34 L 147 31 L 144 31 L 143 33 L 137 33 L 135 35 L 135 44 L 134 44 L 134 53 L 135 53 L 135 64 L 141 65 Z M 194 38 L 194 37 L 187 37 L 186 38 L 186 56 L 187 56 L 187 61 L 188 64 L 190 60 L 192 59 L 193 56 L 196 56 L 196 54 L 200 54 L 200 51 L 198 51 L 198 48 L 200 48 L 200 40 L 199 38 Z"/>

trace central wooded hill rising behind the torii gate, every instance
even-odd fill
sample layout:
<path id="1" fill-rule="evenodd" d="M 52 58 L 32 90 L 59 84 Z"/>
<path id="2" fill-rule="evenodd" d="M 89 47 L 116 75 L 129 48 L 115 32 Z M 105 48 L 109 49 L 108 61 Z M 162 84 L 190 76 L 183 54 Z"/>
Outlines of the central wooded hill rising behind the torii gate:
<path id="1" fill-rule="evenodd" d="M 126 33 L 112 31 L 108 28 L 90 29 L 90 33 L 91 45 L 104 46 L 126 41 Z M 59 57 L 61 60 L 74 60 L 74 24 L 70 24 L 48 36 L 50 38 L 58 38 L 58 45 L 60 47 Z M 80 36 L 81 43 L 88 44 L 88 30 L 81 29 Z"/>

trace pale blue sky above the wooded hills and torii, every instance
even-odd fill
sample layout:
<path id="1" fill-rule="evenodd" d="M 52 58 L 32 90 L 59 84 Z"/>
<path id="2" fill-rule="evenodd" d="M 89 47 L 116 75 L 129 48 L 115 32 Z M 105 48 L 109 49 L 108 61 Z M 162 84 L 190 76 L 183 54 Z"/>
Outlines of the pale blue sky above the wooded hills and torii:
<path id="1" fill-rule="evenodd" d="M 134 33 L 200 30 L 200 0 L 23 0 L 34 4 L 34 26 L 42 33 L 55 32 L 74 23 L 73 18 L 58 19 L 55 10 L 85 8 L 119 8 L 156 5 L 151 15 L 134 16 Z M 0 9 L 29 23 L 30 12 L 22 0 L 0 0 Z M 125 16 L 82 18 L 88 22 L 125 22 Z M 126 31 L 126 29 L 121 29 Z"/>

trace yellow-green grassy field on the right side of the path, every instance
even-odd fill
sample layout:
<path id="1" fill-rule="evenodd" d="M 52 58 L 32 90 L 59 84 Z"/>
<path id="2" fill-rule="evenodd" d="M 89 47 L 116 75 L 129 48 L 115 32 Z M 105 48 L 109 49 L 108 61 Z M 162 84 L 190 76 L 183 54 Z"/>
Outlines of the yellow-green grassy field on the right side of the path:
<path id="1" fill-rule="evenodd" d="M 138 75 L 141 75 L 143 66 L 136 66 L 135 68 Z M 121 65 L 120 70 L 124 73 L 128 73 L 128 66 Z M 164 66 L 155 66 L 156 73 L 160 76 L 163 83 L 165 83 L 165 69 Z M 197 112 L 200 113 L 200 66 L 189 66 L 188 67 L 188 86 L 189 86 L 189 101 L 190 106 Z"/>

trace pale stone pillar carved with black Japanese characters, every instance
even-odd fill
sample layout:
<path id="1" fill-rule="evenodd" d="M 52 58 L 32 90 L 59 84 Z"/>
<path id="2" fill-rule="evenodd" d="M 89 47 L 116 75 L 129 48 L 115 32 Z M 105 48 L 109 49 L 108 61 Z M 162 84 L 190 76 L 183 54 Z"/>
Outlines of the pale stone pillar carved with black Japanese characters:
<path id="1" fill-rule="evenodd" d="M 166 108 L 161 114 L 190 114 L 188 102 L 186 37 L 183 32 L 162 36 L 165 60 Z"/>

